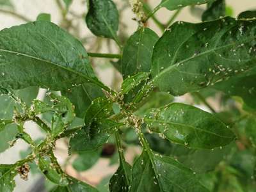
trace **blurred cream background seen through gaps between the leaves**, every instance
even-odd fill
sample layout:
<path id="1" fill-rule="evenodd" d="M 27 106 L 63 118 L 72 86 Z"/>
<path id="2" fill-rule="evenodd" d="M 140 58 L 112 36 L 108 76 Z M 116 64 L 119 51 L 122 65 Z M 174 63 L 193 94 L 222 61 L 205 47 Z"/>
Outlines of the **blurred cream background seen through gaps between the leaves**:
<path id="1" fill-rule="evenodd" d="M 132 20 L 134 14 L 131 11 L 128 0 L 114 1 L 120 12 L 120 26 L 118 33 L 122 39 L 122 42 L 125 42 L 127 37 L 136 31 L 138 24 L 136 21 Z M 86 1 L 73 0 L 72 4 L 70 4 L 68 12 L 65 12 L 64 10 L 65 4 L 63 1 L 58 0 L 12 0 L 10 1 L 10 4 L 1 4 L 1 2 L 4 1 L 0 0 L 0 29 L 10 28 L 29 21 L 34 21 L 40 13 L 49 13 L 51 15 L 51 21 L 61 26 L 61 28 L 67 29 L 68 32 L 81 40 L 87 51 L 109 53 L 117 53 L 118 51 L 118 47 L 116 47 L 115 42 L 112 40 L 95 37 L 86 27 L 86 23 L 84 22 L 84 17 L 87 12 Z M 154 8 L 157 4 L 159 4 L 160 0 L 148 0 L 147 2 L 152 8 Z M 227 0 L 226 2 L 227 13 L 233 17 L 236 17 L 244 10 L 256 10 L 255 0 Z M 205 6 L 184 8 L 180 11 L 175 20 L 200 22 L 200 16 L 204 10 Z M 170 12 L 163 8 L 156 13 L 156 17 L 161 22 L 166 23 L 173 13 L 175 12 Z M 161 35 L 161 31 L 151 19 L 148 21 L 147 25 L 156 31 L 158 35 Z M 97 75 L 105 84 L 108 84 L 108 86 L 118 90 L 120 83 L 122 83 L 122 76 L 120 76 L 118 71 L 113 67 L 111 64 L 112 61 L 93 58 L 92 65 Z M 45 90 L 40 90 L 38 99 L 44 99 L 44 93 Z M 207 108 L 199 103 L 191 103 L 193 101 L 189 95 L 184 95 L 183 97 L 175 99 L 182 102 L 187 102 L 189 104 L 198 105 L 200 108 L 207 110 Z M 215 100 L 211 98 L 209 98 L 208 101 L 216 111 L 220 110 L 220 102 L 217 104 L 217 102 L 214 102 Z M 26 130 L 33 136 L 35 140 L 44 136 L 38 127 L 31 122 L 26 124 Z M 132 134 L 133 133 L 127 133 L 127 142 L 132 141 Z M 166 143 L 157 144 L 157 141 L 158 140 L 152 140 L 153 143 L 155 142 L 155 144 L 158 145 L 157 147 L 161 147 L 160 145 L 163 145 L 163 148 L 166 148 L 166 145 L 168 145 Z M 118 156 L 115 152 L 115 145 L 112 144 L 113 142 L 109 141 L 108 145 L 100 148 L 97 152 L 92 152 L 92 154 L 83 156 L 82 159 L 79 159 L 76 154 L 68 156 L 67 142 L 67 140 L 58 141 L 55 151 L 58 161 L 63 166 L 65 172 L 73 177 L 76 177 L 77 179 L 84 180 L 93 186 L 97 186 L 97 188 L 99 188 L 102 192 L 107 191 L 108 180 L 110 176 L 115 173 L 116 168 L 118 167 Z M 15 161 L 20 159 L 20 157 L 26 156 L 27 148 L 28 145 L 26 145 L 26 143 L 18 141 L 14 147 L 0 153 L 0 163 L 15 163 Z M 140 154 L 140 147 L 137 145 L 130 145 L 125 150 L 125 155 L 127 156 L 127 161 L 129 163 L 132 163 L 134 157 L 136 157 L 138 154 Z M 243 158 L 241 161 L 255 161 L 255 159 L 250 159 L 252 158 L 251 156 L 246 156 Z M 86 159 L 86 161 L 84 159 Z M 247 165 L 250 166 L 248 163 Z M 204 164 L 202 166 L 204 166 Z M 31 170 L 32 171 L 29 174 L 28 181 L 24 181 L 19 177 L 16 178 L 18 187 L 15 188 L 15 191 L 33 192 L 51 189 L 52 184 L 47 180 L 44 180 L 44 177 L 40 175 L 35 167 L 31 166 Z M 239 187 L 237 187 L 237 190 L 238 189 Z"/>

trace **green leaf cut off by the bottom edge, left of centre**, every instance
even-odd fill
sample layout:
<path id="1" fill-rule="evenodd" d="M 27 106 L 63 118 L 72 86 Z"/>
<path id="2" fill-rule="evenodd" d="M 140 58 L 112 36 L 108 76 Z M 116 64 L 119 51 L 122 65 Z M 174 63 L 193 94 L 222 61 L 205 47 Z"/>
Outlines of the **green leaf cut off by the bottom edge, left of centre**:
<path id="1" fill-rule="evenodd" d="M 68 186 L 58 186 L 52 192 L 99 192 L 92 186 L 81 182 L 73 177 L 68 177 L 70 184 Z"/>

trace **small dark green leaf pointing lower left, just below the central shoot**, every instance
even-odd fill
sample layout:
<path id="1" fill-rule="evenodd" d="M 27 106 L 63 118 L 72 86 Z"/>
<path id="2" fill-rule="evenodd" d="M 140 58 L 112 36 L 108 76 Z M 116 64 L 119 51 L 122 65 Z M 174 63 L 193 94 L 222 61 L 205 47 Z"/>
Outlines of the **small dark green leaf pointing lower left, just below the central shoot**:
<path id="1" fill-rule="evenodd" d="M 98 120 L 90 125 L 84 127 L 77 134 L 70 139 L 71 152 L 86 152 L 96 150 L 108 141 L 110 134 L 118 126 L 112 120 Z"/>

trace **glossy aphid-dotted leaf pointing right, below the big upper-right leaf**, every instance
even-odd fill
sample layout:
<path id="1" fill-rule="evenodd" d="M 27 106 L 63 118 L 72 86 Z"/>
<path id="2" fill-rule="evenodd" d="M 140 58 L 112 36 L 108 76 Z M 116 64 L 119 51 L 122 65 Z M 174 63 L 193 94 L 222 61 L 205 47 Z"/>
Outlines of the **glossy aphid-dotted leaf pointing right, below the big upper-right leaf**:
<path id="1" fill-rule="evenodd" d="M 153 109 L 144 120 L 152 131 L 191 148 L 222 147 L 235 138 L 216 116 L 181 103 Z"/>

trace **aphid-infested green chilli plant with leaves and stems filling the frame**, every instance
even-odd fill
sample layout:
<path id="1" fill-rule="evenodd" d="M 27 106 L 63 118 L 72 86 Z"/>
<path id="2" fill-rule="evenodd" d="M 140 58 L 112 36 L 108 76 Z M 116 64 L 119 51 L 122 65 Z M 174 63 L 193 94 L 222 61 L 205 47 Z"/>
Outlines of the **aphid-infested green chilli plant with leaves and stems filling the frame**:
<path id="1" fill-rule="evenodd" d="M 26 21 L 0 31 L 0 150 L 17 140 L 29 145 L 20 161 L 0 164 L 0 191 L 13 191 L 16 175 L 26 180 L 32 168 L 54 184 L 50 191 L 100 190 L 63 170 L 54 154 L 61 138 L 68 154 L 76 154 L 77 171 L 95 163 L 106 143 L 115 144 L 119 166 L 109 191 L 256 190 L 255 11 L 233 18 L 224 0 L 162 0 L 154 9 L 133 0 L 138 29 L 126 38 L 117 33 L 115 3 L 88 0 L 81 17 L 93 35 L 116 44 L 114 54 L 86 52 L 86 41 L 67 32 L 74 27 L 65 17 L 72 1 L 57 3 L 60 27 L 46 13 L 30 22 L 12 9 L 0 10 Z M 202 22 L 173 23 L 186 6 Z M 162 8 L 174 11 L 166 23 L 155 15 Z M 124 79 L 120 87 L 99 81 L 95 57 L 111 60 Z M 39 88 L 47 90 L 44 100 L 36 99 Z M 45 137 L 33 139 L 24 129 L 28 121 Z M 130 145 L 141 150 L 128 163 Z"/>

